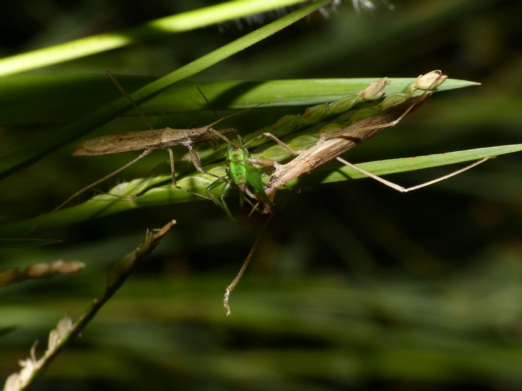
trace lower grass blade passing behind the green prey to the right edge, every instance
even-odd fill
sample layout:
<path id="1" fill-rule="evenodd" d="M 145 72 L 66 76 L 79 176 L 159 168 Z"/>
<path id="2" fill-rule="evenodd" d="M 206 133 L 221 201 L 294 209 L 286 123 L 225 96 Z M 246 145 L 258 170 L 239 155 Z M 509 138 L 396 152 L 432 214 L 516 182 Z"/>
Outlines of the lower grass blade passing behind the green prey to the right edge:
<path id="1" fill-rule="evenodd" d="M 480 160 L 481 158 L 488 156 L 500 156 L 503 154 L 519 151 L 522 151 L 522 144 L 500 145 L 489 148 L 440 153 L 428 156 L 406 157 L 392 160 L 367 162 L 358 164 L 358 166 L 375 175 L 386 175 L 423 168 L 464 163 Z M 224 174 L 224 169 L 221 166 L 216 166 L 214 169 L 210 169 L 210 171 L 219 175 Z M 330 173 L 325 174 L 325 172 Z M 359 178 L 367 177 L 350 167 L 340 167 L 335 169 L 329 168 L 326 170 L 318 169 L 312 174 L 306 175 L 303 178 L 303 185 L 312 186 Z M 123 190 L 125 190 L 127 187 L 129 189 L 143 189 L 143 187 L 136 186 L 136 184 L 139 184 L 140 181 L 143 180 L 146 179 L 136 179 L 132 182 L 120 184 L 118 187 Z M 169 180 L 170 175 L 159 176 L 154 178 L 150 184 L 161 183 Z M 181 179 L 178 184 L 182 187 L 204 194 L 206 187 L 213 180 L 214 178 L 198 173 L 187 175 Z M 295 183 L 293 182 L 296 181 L 289 182 L 289 186 L 294 185 Z M 118 190 L 117 193 L 121 193 L 121 190 Z M 126 194 L 127 196 L 130 196 L 132 191 L 129 191 Z M 137 197 L 134 199 L 111 197 L 106 195 L 97 196 L 80 205 L 68 207 L 50 216 L 34 217 L 18 223 L 2 226 L 0 227 L 0 236 L 17 237 L 24 234 L 31 228 L 34 228 L 31 233 L 36 234 L 42 231 L 48 231 L 50 229 L 87 221 L 91 218 L 108 216 L 114 213 L 135 209 L 137 207 L 160 206 L 165 204 L 200 200 L 199 198 L 192 196 L 192 194 L 188 194 L 185 191 L 174 188 L 170 183 L 160 187 L 153 187 L 141 195 L 136 193 L 136 196 Z"/>

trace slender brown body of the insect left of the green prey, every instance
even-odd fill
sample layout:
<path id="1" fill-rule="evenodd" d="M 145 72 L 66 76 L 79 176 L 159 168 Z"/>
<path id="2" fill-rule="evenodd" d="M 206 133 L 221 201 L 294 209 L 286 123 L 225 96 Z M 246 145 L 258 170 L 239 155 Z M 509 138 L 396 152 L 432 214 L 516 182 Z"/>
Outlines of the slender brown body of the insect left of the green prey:
<path id="1" fill-rule="evenodd" d="M 218 133 L 211 126 L 205 126 L 193 129 L 163 128 L 115 133 L 79 142 L 73 155 L 96 156 L 146 149 L 167 149 L 173 145 L 188 147 L 195 143 L 219 138 L 223 133 L 234 131 L 234 129 L 222 129 Z"/>

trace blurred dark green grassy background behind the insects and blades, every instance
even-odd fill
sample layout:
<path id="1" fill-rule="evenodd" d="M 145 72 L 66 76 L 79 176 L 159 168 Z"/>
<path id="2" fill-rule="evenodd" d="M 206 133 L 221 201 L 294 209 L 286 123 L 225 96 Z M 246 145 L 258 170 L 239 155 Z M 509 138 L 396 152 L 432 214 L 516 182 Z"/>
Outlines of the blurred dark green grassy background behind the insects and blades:
<path id="1" fill-rule="evenodd" d="M 25 1 L 0 13 L 0 56 L 136 26 L 211 2 Z M 192 80 L 415 77 L 442 69 L 480 87 L 435 94 L 394 129 L 346 154 L 352 163 L 521 142 L 522 3 L 396 0 L 355 13 L 345 1 Z M 281 13 L 283 10 L 281 10 Z M 162 76 L 280 12 L 145 41 L 33 73 Z M 1 78 L 0 78 L 1 82 Z M 3 107 L 8 109 L 8 107 Z M 237 119 L 245 132 L 302 107 Z M 59 111 L 60 107 L 56 107 Z M 221 113 L 220 113 L 221 114 Z M 27 114 L 28 116 L 31 113 Z M 211 120 L 197 117 L 200 124 Z M 162 124 L 168 118 L 153 118 Z M 125 118 L 141 128 L 140 119 Z M 194 118 L 187 114 L 182 124 Z M 0 124 L 4 125 L 4 124 Z M 165 126 L 167 124 L 164 124 Z M 2 153 L 47 127 L 6 127 Z M 132 155 L 71 157 L 69 145 L 2 182 L 4 222 L 51 210 Z M 129 157 L 130 156 L 130 157 Z M 118 176 L 144 175 L 162 152 Z M 522 180 L 505 155 L 400 194 L 365 179 L 281 191 L 250 267 L 221 306 L 265 216 L 226 220 L 210 202 L 129 211 L 55 230 L 55 246 L 0 249 L 0 267 L 55 259 L 85 270 L 0 289 L 0 378 L 35 339 L 100 295 L 105 273 L 147 228 L 175 225 L 34 389 L 519 390 L 522 388 Z M 393 175 L 415 185 L 452 167 Z M 116 182 L 101 187 L 110 188 Z M 83 199 L 86 199 L 85 196 Z M 229 204 L 236 215 L 236 199 Z"/>

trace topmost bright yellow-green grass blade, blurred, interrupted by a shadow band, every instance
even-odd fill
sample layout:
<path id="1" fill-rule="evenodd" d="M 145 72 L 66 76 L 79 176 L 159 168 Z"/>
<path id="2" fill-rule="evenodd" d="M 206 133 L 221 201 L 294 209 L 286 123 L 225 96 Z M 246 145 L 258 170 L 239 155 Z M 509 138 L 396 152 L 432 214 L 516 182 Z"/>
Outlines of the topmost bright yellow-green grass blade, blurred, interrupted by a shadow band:
<path id="1" fill-rule="evenodd" d="M 0 75 L 5 76 L 62 63 L 75 58 L 131 45 L 137 41 L 194 30 L 301 2 L 303 0 L 242 0 L 199 8 L 152 20 L 134 28 L 91 35 L 75 41 L 5 57 L 0 62 Z"/>

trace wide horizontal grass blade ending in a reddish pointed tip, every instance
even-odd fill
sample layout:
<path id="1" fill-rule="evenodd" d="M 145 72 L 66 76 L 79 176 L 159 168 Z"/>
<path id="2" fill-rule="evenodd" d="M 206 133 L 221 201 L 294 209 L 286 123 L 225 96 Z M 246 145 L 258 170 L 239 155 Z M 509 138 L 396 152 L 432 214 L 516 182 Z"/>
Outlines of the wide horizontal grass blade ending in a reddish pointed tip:
<path id="1" fill-rule="evenodd" d="M 385 75 L 383 75 L 385 76 Z M 117 76 L 128 91 L 144 87 L 156 78 Z M 216 110 L 267 106 L 313 105 L 333 102 L 363 90 L 376 78 L 292 79 L 267 81 L 193 82 L 182 80 L 140 105 L 147 116 L 208 109 L 196 87 L 205 93 Z M 402 90 L 413 78 L 390 78 L 388 93 Z M 0 80 L 0 125 L 27 126 L 66 123 L 121 97 L 106 75 L 17 75 Z M 440 90 L 478 83 L 448 79 Z M 59 107 L 60 109 L 56 109 Z M 31 113 L 31 115 L 27 115 Z M 125 115 L 137 116 L 131 110 Z M 172 124 L 175 128 L 176 125 Z"/>

